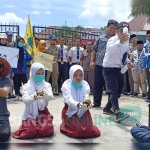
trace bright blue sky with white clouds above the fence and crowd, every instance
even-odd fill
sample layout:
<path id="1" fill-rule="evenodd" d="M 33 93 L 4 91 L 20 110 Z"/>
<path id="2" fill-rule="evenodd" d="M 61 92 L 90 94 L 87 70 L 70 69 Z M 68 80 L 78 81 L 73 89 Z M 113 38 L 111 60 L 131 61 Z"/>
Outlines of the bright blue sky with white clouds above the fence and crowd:
<path id="1" fill-rule="evenodd" d="M 130 21 L 131 0 L 6 0 L 1 1 L 0 23 L 20 25 L 24 36 L 28 14 L 32 25 L 100 28 L 109 19 Z"/>

